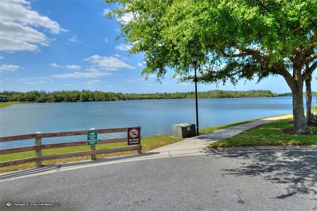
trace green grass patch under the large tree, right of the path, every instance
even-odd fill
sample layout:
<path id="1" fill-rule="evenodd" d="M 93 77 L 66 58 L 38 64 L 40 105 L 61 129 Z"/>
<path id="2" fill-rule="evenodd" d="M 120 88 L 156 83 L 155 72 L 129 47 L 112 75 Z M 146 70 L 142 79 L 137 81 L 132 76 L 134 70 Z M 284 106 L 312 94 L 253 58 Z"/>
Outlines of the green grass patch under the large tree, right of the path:
<path id="1" fill-rule="evenodd" d="M 244 131 L 231 138 L 211 144 L 216 147 L 249 147 L 249 146 L 287 146 L 287 145 L 317 145 L 317 135 L 295 135 L 282 133 L 281 129 L 292 128 L 290 119 L 271 122 Z M 310 127 L 317 131 L 317 127 Z"/>

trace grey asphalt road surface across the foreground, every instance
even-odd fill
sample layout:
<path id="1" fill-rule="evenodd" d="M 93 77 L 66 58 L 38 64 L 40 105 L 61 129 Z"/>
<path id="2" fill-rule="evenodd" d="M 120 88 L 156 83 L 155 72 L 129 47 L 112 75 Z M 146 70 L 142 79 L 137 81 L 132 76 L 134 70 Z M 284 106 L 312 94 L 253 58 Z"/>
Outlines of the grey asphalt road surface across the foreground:
<path id="1" fill-rule="evenodd" d="M 317 151 L 206 150 L 105 163 L 4 179 L 0 193 L 1 211 L 317 211 Z"/>

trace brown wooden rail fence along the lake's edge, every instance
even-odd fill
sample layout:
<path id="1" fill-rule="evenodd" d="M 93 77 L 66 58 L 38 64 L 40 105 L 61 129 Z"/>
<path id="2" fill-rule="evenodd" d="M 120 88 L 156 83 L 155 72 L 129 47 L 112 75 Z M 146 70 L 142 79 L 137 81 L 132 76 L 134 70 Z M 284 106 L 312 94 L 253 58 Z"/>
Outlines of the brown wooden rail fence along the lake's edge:
<path id="1" fill-rule="evenodd" d="M 137 127 L 139 127 L 141 130 L 140 126 L 137 126 Z M 0 162 L 0 167 L 7 167 L 7 166 L 11 166 L 11 165 L 18 165 L 18 164 L 24 164 L 24 163 L 30 163 L 30 162 L 35 162 L 35 164 L 36 164 L 35 166 L 40 167 L 40 166 L 42 166 L 42 161 L 44 161 L 44 160 L 60 159 L 60 158 L 73 158 L 73 157 L 80 157 L 80 156 L 91 156 L 91 159 L 96 159 L 96 155 L 100 155 L 100 154 L 117 153 L 117 152 L 133 151 L 133 150 L 137 150 L 137 153 L 141 154 L 142 145 L 137 144 L 137 145 L 132 145 L 132 146 L 128 146 L 128 147 L 119 147 L 119 148 L 111 148 L 111 149 L 104 149 L 104 150 L 96 150 L 96 145 L 92 145 L 92 146 L 90 146 L 91 147 L 90 151 L 42 156 L 42 150 L 46 150 L 46 149 L 87 146 L 87 141 L 66 142 L 66 143 L 42 145 L 43 138 L 87 135 L 87 131 L 89 131 L 89 130 L 53 132 L 53 133 L 34 133 L 34 134 L 28 134 L 28 135 L 0 137 L 0 142 L 35 139 L 35 145 L 32 145 L 32 146 L 9 148 L 9 149 L 0 150 L 0 155 L 27 152 L 27 151 L 35 151 L 35 157 L 3 161 L 3 162 Z M 122 128 L 111 128 L 111 129 L 98 129 L 97 131 L 98 131 L 98 134 L 117 133 L 117 132 L 127 132 L 127 128 L 122 127 Z M 127 135 L 127 137 L 128 137 L 128 135 Z M 127 142 L 127 137 L 112 138 L 112 139 L 98 139 L 98 145 L 99 144 L 117 143 L 117 142 Z"/>

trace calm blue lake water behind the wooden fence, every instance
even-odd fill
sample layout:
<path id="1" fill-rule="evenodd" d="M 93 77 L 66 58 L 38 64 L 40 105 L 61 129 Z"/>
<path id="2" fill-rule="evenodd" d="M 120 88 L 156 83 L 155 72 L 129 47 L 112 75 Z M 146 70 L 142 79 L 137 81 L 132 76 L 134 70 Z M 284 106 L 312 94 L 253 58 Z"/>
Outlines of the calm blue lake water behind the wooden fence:
<path id="1" fill-rule="evenodd" d="M 305 103 L 305 101 L 304 101 Z M 312 105 L 316 105 L 313 98 Z M 291 97 L 198 99 L 199 128 L 292 113 Z M 142 126 L 142 136 L 171 133 L 173 124 L 196 124 L 195 99 L 16 104 L 0 109 L 0 136 L 90 128 Z M 124 137 L 125 133 L 98 138 Z M 42 143 L 83 141 L 85 137 L 42 139 Z M 33 145 L 34 140 L 4 142 L 0 148 Z"/>

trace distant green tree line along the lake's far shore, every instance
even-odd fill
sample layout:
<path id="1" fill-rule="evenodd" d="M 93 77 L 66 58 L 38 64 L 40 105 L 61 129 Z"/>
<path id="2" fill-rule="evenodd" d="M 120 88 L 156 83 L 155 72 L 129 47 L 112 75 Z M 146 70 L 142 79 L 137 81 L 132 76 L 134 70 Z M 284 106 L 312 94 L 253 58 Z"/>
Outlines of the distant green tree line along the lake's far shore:
<path id="1" fill-rule="evenodd" d="M 93 101 L 124 101 L 124 100 L 146 100 L 146 99 L 184 99 L 195 98 L 195 92 L 187 93 L 152 93 L 152 94 L 122 94 L 101 91 L 30 91 L 30 92 L 10 92 L 4 91 L 0 95 L 8 97 L 8 101 L 18 102 L 93 102 Z M 250 90 L 250 91 L 223 91 L 211 90 L 207 92 L 198 92 L 198 98 L 254 98 L 254 97 L 277 97 L 288 96 L 287 93 L 278 95 L 269 90 Z M 317 96 L 317 92 L 313 92 Z"/>

